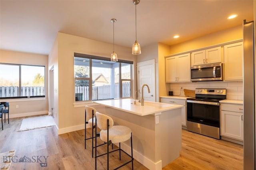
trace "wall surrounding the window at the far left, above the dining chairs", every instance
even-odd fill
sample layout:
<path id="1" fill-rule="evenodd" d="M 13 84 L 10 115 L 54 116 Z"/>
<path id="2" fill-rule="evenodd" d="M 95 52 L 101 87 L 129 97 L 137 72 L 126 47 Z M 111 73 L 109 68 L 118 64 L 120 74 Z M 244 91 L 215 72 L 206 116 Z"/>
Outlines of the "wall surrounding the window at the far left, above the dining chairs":
<path id="1" fill-rule="evenodd" d="M 28 115 L 48 114 L 48 56 L 22 53 L 17 51 L 0 50 L 0 63 L 29 64 L 45 66 L 45 96 L 43 100 L 30 99 L 8 99 L 1 101 L 10 102 L 10 118 Z M 18 105 L 18 108 L 16 108 Z"/>

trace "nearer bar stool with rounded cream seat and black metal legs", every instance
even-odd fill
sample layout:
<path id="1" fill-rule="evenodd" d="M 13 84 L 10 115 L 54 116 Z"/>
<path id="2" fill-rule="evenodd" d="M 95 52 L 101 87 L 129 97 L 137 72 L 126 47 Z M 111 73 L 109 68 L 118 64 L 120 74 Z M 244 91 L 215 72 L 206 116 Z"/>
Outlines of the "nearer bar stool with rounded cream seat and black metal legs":
<path id="1" fill-rule="evenodd" d="M 126 164 L 132 162 L 132 170 L 133 170 L 133 154 L 132 154 L 132 130 L 129 127 L 126 126 L 120 126 L 120 125 L 115 125 L 114 126 L 114 121 L 111 117 L 108 115 L 104 115 L 102 113 L 96 112 L 96 123 L 98 128 L 101 129 L 100 131 L 100 139 L 107 144 L 107 152 L 101 155 L 97 156 L 97 145 L 95 149 L 95 170 L 97 169 L 97 158 L 103 155 L 107 154 L 107 169 L 109 170 L 109 154 L 111 152 L 115 152 L 119 150 L 119 160 L 121 160 L 121 151 L 127 154 L 131 160 L 128 162 L 122 164 L 121 166 L 118 166 L 116 169 L 119 169 Z M 131 155 L 126 153 L 124 150 L 121 149 L 121 142 L 131 140 Z M 97 142 L 97 139 L 95 138 L 95 143 Z M 116 150 L 109 151 L 109 145 L 111 143 L 119 143 L 119 148 Z"/>

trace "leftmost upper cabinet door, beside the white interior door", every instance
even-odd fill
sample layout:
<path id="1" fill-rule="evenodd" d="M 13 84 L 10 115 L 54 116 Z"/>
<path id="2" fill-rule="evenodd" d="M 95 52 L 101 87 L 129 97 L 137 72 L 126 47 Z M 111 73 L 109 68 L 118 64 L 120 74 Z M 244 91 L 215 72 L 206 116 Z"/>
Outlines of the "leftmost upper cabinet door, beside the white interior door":
<path id="1" fill-rule="evenodd" d="M 165 81 L 175 82 L 177 80 L 177 59 L 176 57 L 165 58 Z"/>

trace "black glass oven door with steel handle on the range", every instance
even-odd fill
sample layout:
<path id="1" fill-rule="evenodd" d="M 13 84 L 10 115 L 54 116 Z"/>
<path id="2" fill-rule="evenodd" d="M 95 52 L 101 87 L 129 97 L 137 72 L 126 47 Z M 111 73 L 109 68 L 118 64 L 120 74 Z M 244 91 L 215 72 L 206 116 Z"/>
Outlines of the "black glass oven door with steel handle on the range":
<path id="1" fill-rule="evenodd" d="M 220 104 L 218 102 L 187 101 L 187 120 L 220 127 Z"/>

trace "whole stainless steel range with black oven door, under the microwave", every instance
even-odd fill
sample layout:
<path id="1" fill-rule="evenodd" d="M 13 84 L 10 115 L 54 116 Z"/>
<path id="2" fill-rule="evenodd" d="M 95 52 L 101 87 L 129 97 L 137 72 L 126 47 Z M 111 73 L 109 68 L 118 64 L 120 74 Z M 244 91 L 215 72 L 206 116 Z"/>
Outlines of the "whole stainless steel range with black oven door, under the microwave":
<path id="1" fill-rule="evenodd" d="M 196 97 L 187 99 L 187 129 L 220 139 L 220 100 L 226 89 L 196 88 Z"/>

